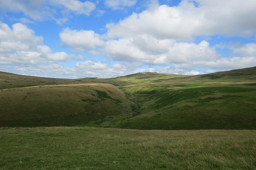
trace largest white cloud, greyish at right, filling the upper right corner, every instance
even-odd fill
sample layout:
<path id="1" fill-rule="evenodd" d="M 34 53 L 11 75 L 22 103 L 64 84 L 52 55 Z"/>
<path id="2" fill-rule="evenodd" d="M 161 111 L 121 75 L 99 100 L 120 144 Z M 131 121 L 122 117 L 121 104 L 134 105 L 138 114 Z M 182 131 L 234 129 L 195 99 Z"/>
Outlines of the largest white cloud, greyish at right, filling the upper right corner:
<path id="1" fill-rule="evenodd" d="M 156 39 L 191 40 L 197 35 L 252 36 L 256 33 L 256 1 L 183 0 L 177 7 L 161 5 L 121 20 L 111 28 L 109 37 L 151 35 Z"/>

